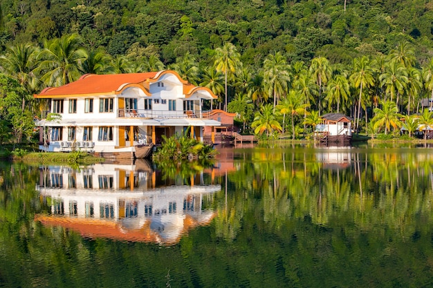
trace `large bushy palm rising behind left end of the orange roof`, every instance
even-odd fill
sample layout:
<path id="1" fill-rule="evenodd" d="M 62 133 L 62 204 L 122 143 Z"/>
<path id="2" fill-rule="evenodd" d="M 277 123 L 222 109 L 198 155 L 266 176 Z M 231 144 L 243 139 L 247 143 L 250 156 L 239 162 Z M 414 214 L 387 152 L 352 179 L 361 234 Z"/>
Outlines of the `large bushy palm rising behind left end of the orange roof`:
<path id="1" fill-rule="evenodd" d="M 44 42 L 39 53 L 41 79 L 47 86 L 62 86 L 78 79 L 80 63 L 86 59 L 86 50 L 77 34 Z"/>

